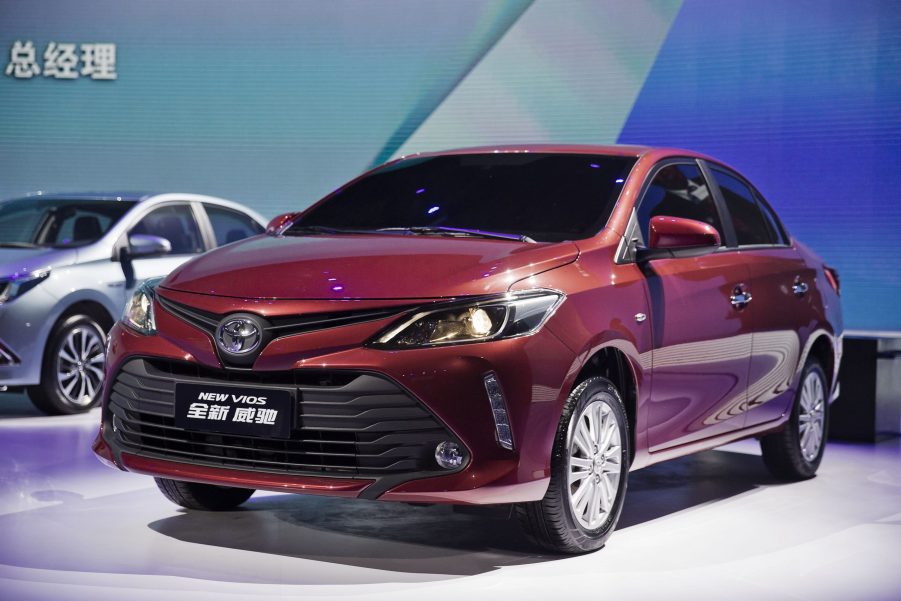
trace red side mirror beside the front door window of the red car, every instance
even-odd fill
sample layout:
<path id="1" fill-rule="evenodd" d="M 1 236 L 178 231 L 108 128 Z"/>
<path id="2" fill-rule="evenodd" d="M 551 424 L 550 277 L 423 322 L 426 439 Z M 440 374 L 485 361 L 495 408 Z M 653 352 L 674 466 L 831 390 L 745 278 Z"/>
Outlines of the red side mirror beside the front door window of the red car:
<path id="1" fill-rule="evenodd" d="M 638 248 L 639 262 L 703 255 L 719 248 L 720 234 L 712 225 L 694 219 L 658 215 L 648 227 L 648 248 Z"/>

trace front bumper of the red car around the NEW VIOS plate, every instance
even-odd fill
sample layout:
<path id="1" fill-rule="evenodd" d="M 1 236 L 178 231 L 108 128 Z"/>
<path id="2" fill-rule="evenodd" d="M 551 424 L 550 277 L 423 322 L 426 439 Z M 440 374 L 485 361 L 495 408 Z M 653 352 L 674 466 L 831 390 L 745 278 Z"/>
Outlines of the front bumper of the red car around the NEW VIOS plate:
<path id="1" fill-rule="evenodd" d="M 431 503 L 541 499 L 565 398 L 561 390 L 574 361 L 571 351 L 547 329 L 525 338 L 440 348 L 384 351 L 360 346 L 391 319 L 383 321 L 277 339 L 263 351 L 250 375 L 241 376 L 279 385 L 285 384 L 278 378 L 288 374 L 299 378 L 291 384 L 300 391 L 299 429 L 281 449 L 272 448 L 265 439 L 216 442 L 182 431 L 174 437 L 190 440 L 173 441 L 173 436 L 161 434 L 172 430 L 147 430 L 147 440 L 152 436 L 169 439 L 154 444 L 123 435 L 129 429 L 122 421 L 128 417 L 125 412 L 139 413 L 149 407 L 141 405 L 141 387 L 153 388 L 167 379 L 153 380 L 160 374 L 128 374 L 135 365 L 175 366 L 170 381 L 188 377 L 221 383 L 235 376 L 219 364 L 206 333 L 165 311 L 157 311 L 160 335 L 141 336 L 117 325 L 110 334 L 103 426 L 96 446 L 102 452 L 98 454 L 128 471 L 247 488 Z M 497 441 L 485 392 L 488 373 L 497 375 L 506 396 L 515 441 L 512 450 Z M 343 379 L 330 386 L 309 385 L 311 378 L 336 374 Z M 362 376 L 365 386 L 359 379 L 354 383 L 354 378 Z M 374 383 L 381 389 L 374 391 Z M 333 446 L 339 442 L 333 440 L 334 423 L 323 416 L 321 403 L 316 414 L 304 405 L 304 399 L 316 403 L 323 395 L 337 406 L 367 408 L 345 412 L 352 415 L 355 426 L 341 433 L 346 438 L 340 442 L 350 446 Z M 160 419 L 174 411 L 167 398 L 157 396 L 157 403 L 151 403 L 162 414 Z M 392 421 L 392 416 L 397 419 Z M 420 420 L 418 429 L 410 429 L 405 420 Z M 168 422 L 156 425 L 172 428 Z M 388 438 L 373 438 L 374 430 L 384 431 Z M 458 442 L 466 450 L 466 462 L 455 471 L 441 469 L 434 460 L 435 444 L 443 440 Z M 211 456 L 209 443 L 239 448 Z M 246 455 L 248 446 L 261 446 L 263 452 Z M 350 447 L 354 451 L 349 454 Z M 367 449 L 374 452 L 364 452 Z"/>

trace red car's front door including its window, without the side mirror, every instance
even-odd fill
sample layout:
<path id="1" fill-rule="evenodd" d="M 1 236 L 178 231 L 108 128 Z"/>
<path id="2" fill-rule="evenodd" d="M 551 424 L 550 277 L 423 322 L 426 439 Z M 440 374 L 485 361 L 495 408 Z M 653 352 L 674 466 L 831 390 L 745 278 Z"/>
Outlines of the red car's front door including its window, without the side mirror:
<path id="1" fill-rule="evenodd" d="M 668 161 L 651 175 L 636 211 L 640 242 L 652 217 L 713 225 L 723 241 L 720 208 L 700 165 Z M 739 429 L 744 424 L 752 323 L 746 306 L 748 268 L 725 244 L 700 257 L 658 259 L 643 266 L 653 331 L 650 450 L 659 451 Z"/>

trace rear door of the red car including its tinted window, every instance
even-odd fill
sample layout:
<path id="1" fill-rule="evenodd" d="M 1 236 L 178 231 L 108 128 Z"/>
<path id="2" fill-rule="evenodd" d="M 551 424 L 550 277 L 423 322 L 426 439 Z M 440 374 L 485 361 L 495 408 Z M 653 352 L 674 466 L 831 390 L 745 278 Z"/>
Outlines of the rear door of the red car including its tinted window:
<path id="1" fill-rule="evenodd" d="M 778 419 L 791 408 L 804 315 L 812 315 L 816 278 L 753 186 L 726 167 L 707 166 L 750 270 L 753 298 L 748 313 L 754 320 L 754 338 L 745 425 L 754 426 Z"/>

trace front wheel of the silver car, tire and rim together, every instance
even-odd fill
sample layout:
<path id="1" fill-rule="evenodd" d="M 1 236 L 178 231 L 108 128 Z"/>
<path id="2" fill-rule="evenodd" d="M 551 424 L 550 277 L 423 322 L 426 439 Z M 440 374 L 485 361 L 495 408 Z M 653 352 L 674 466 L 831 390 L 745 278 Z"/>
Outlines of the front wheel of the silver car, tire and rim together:
<path id="1" fill-rule="evenodd" d="M 106 333 L 97 321 L 82 314 L 65 318 L 50 333 L 41 383 L 28 387 L 28 397 L 50 415 L 90 410 L 100 401 L 105 355 Z"/>

